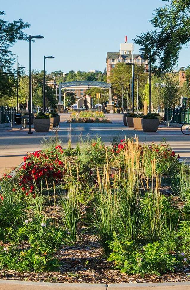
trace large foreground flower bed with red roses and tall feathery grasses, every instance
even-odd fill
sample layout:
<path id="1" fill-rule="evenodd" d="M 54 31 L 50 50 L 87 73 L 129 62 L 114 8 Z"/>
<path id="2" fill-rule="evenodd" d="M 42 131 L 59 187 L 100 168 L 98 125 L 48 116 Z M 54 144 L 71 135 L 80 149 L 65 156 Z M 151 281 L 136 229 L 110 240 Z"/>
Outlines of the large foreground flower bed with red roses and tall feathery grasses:
<path id="1" fill-rule="evenodd" d="M 190 169 L 167 143 L 98 138 L 24 162 L 0 181 L 1 278 L 189 280 Z"/>

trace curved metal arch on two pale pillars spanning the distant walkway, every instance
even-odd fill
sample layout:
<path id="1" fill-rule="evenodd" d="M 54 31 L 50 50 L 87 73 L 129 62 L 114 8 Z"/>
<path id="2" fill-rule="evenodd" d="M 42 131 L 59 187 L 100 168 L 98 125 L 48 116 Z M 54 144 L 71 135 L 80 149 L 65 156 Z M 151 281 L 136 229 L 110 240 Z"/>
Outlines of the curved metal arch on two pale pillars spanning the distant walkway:
<path id="1" fill-rule="evenodd" d="M 106 83 L 103 81 L 68 81 L 65 83 L 59 83 L 59 104 L 62 104 L 61 101 L 61 89 L 74 86 L 89 86 L 89 87 L 102 87 L 109 89 L 109 105 L 112 105 L 112 87 L 111 83 Z"/>

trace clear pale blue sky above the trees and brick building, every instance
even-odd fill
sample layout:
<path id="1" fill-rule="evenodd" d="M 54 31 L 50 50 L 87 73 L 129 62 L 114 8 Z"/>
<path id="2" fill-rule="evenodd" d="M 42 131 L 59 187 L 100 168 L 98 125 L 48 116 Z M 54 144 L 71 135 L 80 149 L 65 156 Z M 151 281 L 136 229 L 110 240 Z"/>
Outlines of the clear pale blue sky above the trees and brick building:
<path id="1" fill-rule="evenodd" d="M 104 70 L 107 51 L 119 51 L 124 36 L 128 42 L 141 32 L 152 29 L 153 9 L 163 6 L 161 0 L 1 0 L 1 10 L 8 21 L 22 18 L 31 24 L 27 34 L 41 34 L 44 39 L 32 43 L 32 68 L 54 70 Z M 12 51 L 19 63 L 29 67 L 29 44 L 17 42 Z M 134 53 L 139 47 L 134 46 Z M 178 66 L 190 64 L 190 48 L 183 48 Z"/>

